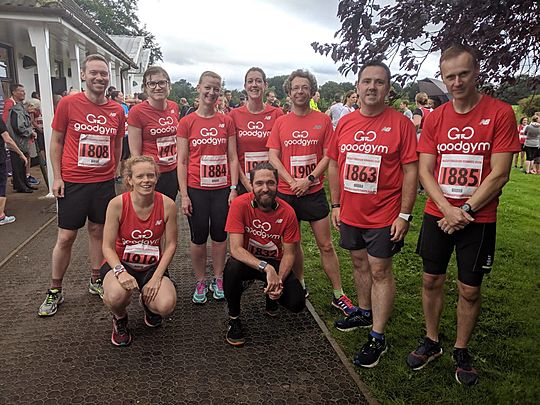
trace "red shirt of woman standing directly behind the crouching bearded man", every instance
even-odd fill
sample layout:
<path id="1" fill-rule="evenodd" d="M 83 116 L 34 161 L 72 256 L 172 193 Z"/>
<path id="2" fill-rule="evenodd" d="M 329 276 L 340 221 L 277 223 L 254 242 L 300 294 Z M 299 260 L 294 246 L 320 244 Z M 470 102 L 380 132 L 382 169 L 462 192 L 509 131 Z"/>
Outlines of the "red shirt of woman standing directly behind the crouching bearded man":
<path id="1" fill-rule="evenodd" d="M 267 138 L 278 117 L 283 115 L 281 108 L 265 105 L 264 111 L 253 114 L 246 106 L 235 108 L 229 113 L 236 128 L 236 147 L 238 161 L 249 179 L 249 171 L 261 162 L 268 162 Z"/>

